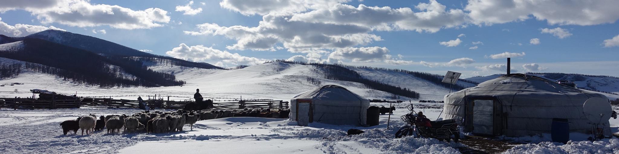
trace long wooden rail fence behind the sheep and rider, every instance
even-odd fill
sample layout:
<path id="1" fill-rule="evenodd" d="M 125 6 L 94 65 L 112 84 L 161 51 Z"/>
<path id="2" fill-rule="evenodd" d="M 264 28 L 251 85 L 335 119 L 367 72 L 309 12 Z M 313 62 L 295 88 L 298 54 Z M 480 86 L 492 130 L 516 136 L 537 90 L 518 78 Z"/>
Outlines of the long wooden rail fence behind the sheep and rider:
<path id="1" fill-rule="evenodd" d="M 171 100 L 143 100 L 151 109 L 181 109 L 189 102 Z M 0 108 L 79 108 L 82 105 L 107 108 L 139 108 L 138 100 L 79 98 L 67 100 L 38 100 L 0 98 Z M 237 108 L 289 108 L 288 102 L 282 100 L 241 100 L 238 102 L 213 102 L 215 109 Z"/>

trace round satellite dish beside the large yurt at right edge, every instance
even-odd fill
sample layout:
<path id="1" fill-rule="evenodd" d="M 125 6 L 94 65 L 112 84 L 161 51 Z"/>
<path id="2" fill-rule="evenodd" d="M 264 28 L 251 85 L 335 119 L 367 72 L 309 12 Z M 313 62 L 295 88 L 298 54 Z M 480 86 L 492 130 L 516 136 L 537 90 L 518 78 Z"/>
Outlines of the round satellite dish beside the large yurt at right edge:
<path id="1" fill-rule="evenodd" d="M 582 105 L 582 113 L 584 113 L 587 119 L 592 123 L 599 124 L 602 123 L 602 121 L 610 119 L 612 108 L 608 100 L 600 97 L 592 97 L 591 99 L 587 99 L 584 105 Z"/>

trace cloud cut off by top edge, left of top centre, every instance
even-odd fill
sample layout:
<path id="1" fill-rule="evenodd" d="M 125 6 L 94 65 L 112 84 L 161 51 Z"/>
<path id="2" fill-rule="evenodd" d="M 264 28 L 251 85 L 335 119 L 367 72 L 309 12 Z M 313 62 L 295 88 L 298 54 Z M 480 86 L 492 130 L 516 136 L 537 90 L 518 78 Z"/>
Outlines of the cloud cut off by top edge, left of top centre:
<path id="1" fill-rule="evenodd" d="M 223 0 L 219 6 L 243 15 L 290 14 L 316 10 L 350 0 Z"/>

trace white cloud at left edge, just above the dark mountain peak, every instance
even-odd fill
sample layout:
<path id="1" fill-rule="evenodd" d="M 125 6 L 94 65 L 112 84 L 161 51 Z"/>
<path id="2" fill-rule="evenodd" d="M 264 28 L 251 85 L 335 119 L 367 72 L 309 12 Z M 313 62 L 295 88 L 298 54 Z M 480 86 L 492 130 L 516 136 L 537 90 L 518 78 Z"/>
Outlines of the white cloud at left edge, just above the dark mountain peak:
<path id="1" fill-rule="evenodd" d="M 7 23 L 2 22 L 2 18 L 0 18 L 0 34 L 4 34 L 7 36 L 26 36 L 28 34 L 38 33 L 44 30 L 66 31 L 60 28 L 56 28 L 55 26 L 36 26 L 36 25 L 25 25 L 21 23 L 17 23 L 15 25 L 9 25 Z"/>

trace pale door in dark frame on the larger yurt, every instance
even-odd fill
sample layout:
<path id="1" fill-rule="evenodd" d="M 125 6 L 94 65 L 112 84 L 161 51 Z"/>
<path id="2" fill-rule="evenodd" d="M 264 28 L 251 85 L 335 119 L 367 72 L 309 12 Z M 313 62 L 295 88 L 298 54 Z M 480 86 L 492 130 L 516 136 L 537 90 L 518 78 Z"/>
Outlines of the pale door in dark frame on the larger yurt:
<path id="1" fill-rule="evenodd" d="M 473 106 L 473 133 L 494 135 L 494 100 L 475 99 Z"/>

